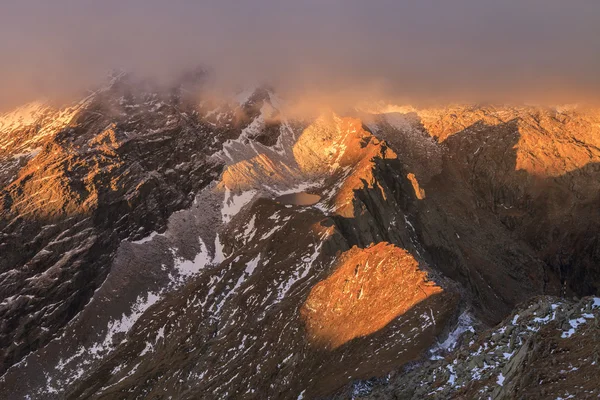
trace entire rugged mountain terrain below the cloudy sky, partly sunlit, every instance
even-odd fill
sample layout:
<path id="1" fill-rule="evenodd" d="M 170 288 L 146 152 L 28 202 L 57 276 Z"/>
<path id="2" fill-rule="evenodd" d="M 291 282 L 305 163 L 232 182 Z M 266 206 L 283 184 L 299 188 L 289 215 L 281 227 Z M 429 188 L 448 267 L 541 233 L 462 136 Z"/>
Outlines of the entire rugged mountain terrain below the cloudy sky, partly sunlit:
<path id="1" fill-rule="evenodd" d="M 293 121 L 203 79 L 0 124 L 1 398 L 596 393 L 598 112 Z"/>

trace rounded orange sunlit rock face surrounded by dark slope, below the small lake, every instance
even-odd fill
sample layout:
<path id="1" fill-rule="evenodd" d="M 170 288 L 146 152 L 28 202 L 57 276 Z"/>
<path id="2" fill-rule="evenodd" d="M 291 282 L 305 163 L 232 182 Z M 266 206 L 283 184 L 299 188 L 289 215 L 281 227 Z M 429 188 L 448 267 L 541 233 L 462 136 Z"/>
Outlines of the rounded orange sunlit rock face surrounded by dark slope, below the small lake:
<path id="1" fill-rule="evenodd" d="M 343 253 L 335 272 L 313 287 L 300 313 L 312 343 L 337 348 L 379 331 L 441 292 L 412 255 L 379 243 Z"/>

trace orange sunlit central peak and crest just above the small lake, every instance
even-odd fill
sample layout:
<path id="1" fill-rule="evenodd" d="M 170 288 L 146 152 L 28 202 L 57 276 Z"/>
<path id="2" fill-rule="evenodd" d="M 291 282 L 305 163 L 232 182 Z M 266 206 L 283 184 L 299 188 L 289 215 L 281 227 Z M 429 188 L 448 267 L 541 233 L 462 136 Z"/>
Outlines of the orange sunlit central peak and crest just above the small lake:
<path id="1" fill-rule="evenodd" d="M 356 118 L 325 114 L 311 123 L 292 147 L 293 159 L 255 145 L 263 153 L 239 160 L 225 169 L 220 187 L 234 192 L 264 186 L 285 187 L 290 182 L 310 181 L 351 173 L 340 179 L 333 206 L 336 214 L 351 217 L 353 191 L 376 185 L 374 159 L 394 159 L 396 154 L 369 132 Z M 268 152 L 268 154 L 266 154 Z"/>

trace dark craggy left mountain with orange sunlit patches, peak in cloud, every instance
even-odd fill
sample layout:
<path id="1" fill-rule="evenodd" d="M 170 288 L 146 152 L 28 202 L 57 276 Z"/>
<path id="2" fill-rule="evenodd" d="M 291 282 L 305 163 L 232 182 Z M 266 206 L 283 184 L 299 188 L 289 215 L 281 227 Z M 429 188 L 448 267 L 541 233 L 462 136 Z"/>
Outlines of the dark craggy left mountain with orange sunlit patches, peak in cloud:
<path id="1" fill-rule="evenodd" d="M 45 111 L 3 132 L 35 138 L 26 156 L 16 141 L 0 153 L 20 163 L 2 175 L 3 370 L 81 310 L 121 240 L 164 229 L 220 173 L 209 156 L 243 125 L 215 129 L 189 103 L 150 89 L 120 76 L 59 117 Z"/>

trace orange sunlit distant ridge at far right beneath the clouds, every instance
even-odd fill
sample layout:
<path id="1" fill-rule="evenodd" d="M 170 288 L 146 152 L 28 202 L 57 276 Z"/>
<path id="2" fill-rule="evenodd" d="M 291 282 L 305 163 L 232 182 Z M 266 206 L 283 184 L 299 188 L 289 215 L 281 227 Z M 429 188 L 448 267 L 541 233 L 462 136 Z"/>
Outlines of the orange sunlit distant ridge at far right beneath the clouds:
<path id="1" fill-rule="evenodd" d="M 451 105 L 430 109 L 386 109 L 414 113 L 424 130 L 440 142 L 473 127 L 516 122 L 519 135 L 515 170 L 557 177 L 600 162 L 600 113 L 577 107 L 476 107 Z"/>

